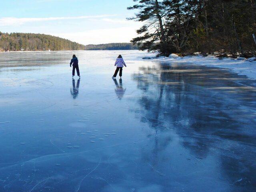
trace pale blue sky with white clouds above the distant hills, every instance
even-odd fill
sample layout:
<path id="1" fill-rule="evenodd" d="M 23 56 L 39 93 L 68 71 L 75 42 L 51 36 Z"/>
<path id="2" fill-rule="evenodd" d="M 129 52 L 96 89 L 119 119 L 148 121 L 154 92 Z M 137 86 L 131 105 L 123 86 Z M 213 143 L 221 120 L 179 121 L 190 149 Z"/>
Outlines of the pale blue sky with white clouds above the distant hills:
<path id="1" fill-rule="evenodd" d="M 0 31 L 41 33 L 81 44 L 130 42 L 140 22 L 132 0 L 8 0 L 1 2 Z"/>

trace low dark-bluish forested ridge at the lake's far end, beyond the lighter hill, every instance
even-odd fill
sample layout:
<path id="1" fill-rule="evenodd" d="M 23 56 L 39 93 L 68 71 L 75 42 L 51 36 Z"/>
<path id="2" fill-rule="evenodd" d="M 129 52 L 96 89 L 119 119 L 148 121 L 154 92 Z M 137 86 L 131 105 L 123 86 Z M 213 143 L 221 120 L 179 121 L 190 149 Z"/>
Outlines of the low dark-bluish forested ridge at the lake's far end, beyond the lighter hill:
<path id="1" fill-rule="evenodd" d="M 90 44 L 86 45 L 84 50 L 138 50 L 138 45 L 132 43 Z"/>

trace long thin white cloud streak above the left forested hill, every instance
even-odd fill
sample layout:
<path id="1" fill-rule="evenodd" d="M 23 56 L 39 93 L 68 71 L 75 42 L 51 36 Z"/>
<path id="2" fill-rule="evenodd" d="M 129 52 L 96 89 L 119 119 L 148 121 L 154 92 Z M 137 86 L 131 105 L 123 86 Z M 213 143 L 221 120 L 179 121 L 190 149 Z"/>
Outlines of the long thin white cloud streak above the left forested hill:
<path id="1" fill-rule="evenodd" d="M 90 18 L 104 18 L 110 15 L 96 15 L 96 16 L 79 16 L 79 17 L 48 17 L 48 18 L 16 18 L 4 17 L 0 18 L 0 26 L 17 26 L 28 22 L 52 21 L 52 20 L 71 20 L 71 19 L 90 19 Z"/>

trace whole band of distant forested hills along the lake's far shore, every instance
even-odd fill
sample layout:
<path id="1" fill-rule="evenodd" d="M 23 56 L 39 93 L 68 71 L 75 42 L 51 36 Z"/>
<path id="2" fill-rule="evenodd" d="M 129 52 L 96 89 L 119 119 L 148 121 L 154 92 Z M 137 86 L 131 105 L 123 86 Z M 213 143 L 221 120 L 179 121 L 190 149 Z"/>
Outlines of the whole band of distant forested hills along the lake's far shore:
<path id="1" fill-rule="evenodd" d="M 0 32 L 0 51 L 138 50 L 137 44 L 108 43 L 82 45 L 67 39 L 33 33 Z"/>

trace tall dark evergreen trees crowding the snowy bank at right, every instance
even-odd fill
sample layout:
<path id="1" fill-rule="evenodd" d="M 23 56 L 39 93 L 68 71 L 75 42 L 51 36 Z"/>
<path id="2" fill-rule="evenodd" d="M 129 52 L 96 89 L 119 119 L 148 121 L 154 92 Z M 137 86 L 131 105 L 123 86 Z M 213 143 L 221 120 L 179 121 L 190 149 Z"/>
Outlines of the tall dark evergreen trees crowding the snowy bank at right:
<path id="1" fill-rule="evenodd" d="M 170 53 L 256 54 L 256 0 L 134 0 L 129 20 L 144 22 L 133 38 L 140 50 Z"/>

